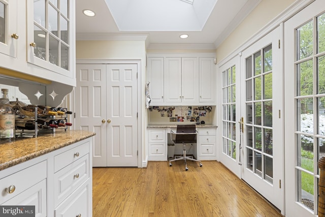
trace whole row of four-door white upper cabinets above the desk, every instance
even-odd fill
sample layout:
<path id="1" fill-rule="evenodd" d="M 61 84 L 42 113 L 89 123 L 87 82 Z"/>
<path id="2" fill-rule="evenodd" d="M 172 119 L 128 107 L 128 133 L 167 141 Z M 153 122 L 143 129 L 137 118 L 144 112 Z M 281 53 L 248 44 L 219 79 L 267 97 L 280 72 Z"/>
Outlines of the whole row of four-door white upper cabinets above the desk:
<path id="1" fill-rule="evenodd" d="M 213 54 L 148 56 L 150 105 L 215 105 L 216 77 Z"/>

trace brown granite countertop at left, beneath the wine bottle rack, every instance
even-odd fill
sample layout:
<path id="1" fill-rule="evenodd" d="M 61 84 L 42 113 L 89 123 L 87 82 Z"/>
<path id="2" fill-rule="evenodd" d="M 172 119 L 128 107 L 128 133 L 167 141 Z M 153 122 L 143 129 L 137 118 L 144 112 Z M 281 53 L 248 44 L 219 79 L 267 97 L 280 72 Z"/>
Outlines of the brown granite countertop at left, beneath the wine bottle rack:
<path id="1" fill-rule="evenodd" d="M 56 131 L 55 133 L 41 134 L 37 138 L 18 138 L 12 142 L 0 143 L 0 170 L 94 135 L 93 132 L 81 130 Z"/>

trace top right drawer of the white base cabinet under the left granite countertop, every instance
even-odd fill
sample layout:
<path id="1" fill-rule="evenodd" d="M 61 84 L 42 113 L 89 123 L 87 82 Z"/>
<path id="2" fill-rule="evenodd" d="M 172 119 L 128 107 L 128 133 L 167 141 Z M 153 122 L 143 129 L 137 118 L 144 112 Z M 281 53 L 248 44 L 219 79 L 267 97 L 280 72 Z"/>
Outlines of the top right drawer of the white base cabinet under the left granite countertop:
<path id="1" fill-rule="evenodd" d="M 83 143 L 75 148 L 54 156 L 54 172 L 57 172 L 63 167 L 66 167 L 72 162 L 80 159 L 87 153 L 89 153 L 89 142 Z"/>

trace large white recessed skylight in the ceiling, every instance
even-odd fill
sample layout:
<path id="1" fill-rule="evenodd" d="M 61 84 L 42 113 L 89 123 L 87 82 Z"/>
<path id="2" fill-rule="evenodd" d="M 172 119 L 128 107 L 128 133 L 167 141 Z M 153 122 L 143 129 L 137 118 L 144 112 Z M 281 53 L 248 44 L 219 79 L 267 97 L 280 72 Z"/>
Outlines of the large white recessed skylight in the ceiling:
<path id="1" fill-rule="evenodd" d="M 120 31 L 201 31 L 217 0 L 105 0 Z M 188 4 L 184 4 L 188 3 Z"/>

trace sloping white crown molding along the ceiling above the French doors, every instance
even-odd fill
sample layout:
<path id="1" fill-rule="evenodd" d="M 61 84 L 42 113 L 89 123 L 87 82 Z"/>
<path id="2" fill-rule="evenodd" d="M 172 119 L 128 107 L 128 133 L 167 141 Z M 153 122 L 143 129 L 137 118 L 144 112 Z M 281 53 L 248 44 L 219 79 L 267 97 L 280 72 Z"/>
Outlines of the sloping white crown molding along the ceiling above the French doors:
<path id="1" fill-rule="evenodd" d="M 222 31 L 220 36 L 215 40 L 214 45 L 218 47 L 232 32 L 233 30 L 252 12 L 255 7 L 261 3 L 262 0 L 248 1 L 245 6 L 240 10 L 237 16 L 229 23 L 229 25 Z"/>

